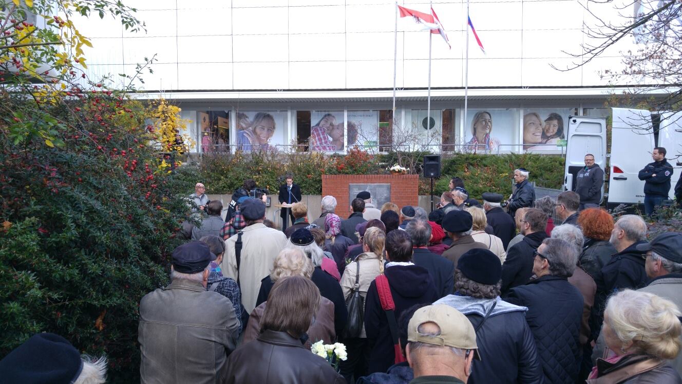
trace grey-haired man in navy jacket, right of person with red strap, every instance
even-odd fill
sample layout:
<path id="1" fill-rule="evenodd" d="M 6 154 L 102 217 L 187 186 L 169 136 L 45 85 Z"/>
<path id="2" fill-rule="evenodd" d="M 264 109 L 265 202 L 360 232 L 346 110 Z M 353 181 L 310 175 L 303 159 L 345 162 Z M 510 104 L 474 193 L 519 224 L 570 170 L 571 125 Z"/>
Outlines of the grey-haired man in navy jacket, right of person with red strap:
<path id="1" fill-rule="evenodd" d="M 407 224 L 405 232 L 412 239 L 412 262 L 428 270 L 439 297 L 451 294 L 455 284 L 455 266 L 450 260 L 428 250 L 427 246 L 432 237 L 431 225 L 425 220 L 413 219 Z"/>

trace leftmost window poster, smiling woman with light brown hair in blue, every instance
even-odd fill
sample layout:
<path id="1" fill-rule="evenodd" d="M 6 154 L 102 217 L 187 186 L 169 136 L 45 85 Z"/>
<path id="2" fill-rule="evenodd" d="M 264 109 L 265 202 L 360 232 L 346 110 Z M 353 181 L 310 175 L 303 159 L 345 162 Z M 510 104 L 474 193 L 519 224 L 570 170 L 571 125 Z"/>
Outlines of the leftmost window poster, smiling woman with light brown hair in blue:
<path id="1" fill-rule="evenodd" d="M 286 143 L 284 111 L 238 111 L 236 123 L 238 150 L 273 150 Z"/>

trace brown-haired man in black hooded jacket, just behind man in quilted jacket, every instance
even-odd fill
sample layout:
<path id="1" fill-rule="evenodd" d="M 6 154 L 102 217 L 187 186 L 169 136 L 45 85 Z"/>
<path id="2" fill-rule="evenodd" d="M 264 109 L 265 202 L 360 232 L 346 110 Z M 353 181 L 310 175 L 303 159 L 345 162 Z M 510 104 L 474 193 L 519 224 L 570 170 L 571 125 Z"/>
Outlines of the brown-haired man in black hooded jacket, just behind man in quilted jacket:
<path id="1" fill-rule="evenodd" d="M 526 284 L 533 275 L 533 252 L 549 236 L 545 232 L 547 214 L 537 208 L 529 208 L 521 220 L 522 241 L 514 244 L 507 252 L 507 260 L 502 264 L 502 294 L 511 288 Z"/>

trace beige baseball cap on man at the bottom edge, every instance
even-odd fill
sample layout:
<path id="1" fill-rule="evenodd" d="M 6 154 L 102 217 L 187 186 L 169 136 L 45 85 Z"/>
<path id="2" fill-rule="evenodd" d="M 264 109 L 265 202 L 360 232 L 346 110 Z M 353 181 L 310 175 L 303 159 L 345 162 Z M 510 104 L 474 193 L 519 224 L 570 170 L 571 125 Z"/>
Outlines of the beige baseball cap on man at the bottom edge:
<path id="1" fill-rule="evenodd" d="M 432 336 L 419 333 L 417 328 L 424 323 L 435 323 L 441 329 L 441 334 Z M 436 304 L 419 308 L 407 327 L 407 341 L 473 349 L 474 357 L 481 359 L 476 344 L 476 332 L 471 322 L 462 312 L 449 305 Z"/>

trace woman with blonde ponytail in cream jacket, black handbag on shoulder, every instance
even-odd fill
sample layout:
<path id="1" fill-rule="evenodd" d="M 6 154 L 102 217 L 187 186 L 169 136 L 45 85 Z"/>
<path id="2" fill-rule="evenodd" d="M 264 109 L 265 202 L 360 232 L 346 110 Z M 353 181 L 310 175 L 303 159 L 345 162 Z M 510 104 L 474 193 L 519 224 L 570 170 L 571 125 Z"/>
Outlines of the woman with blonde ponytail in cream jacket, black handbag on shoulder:
<path id="1" fill-rule="evenodd" d="M 364 302 L 364 299 L 367 297 L 367 291 L 370 289 L 370 284 L 379 276 L 383 269 L 385 238 L 386 235 L 381 228 L 372 227 L 366 230 L 362 243 L 364 252 L 360 253 L 353 262 L 346 266 L 341 276 L 341 289 L 346 301 L 353 295 L 355 277 L 357 276 L 357 289 Z M 371 346 L 368 344 L 365 326 L 362 326 L 359 337 L 344 338 L 342 342 L 346 344 L 348 360 L 341 362 L 341 374 L 346 378 L 346 381 L 351 383 L 351 377 L 354 374 L 357 379 L 360 376 L 365 376 L 367 370 Z"/>

